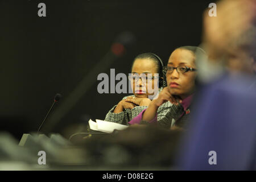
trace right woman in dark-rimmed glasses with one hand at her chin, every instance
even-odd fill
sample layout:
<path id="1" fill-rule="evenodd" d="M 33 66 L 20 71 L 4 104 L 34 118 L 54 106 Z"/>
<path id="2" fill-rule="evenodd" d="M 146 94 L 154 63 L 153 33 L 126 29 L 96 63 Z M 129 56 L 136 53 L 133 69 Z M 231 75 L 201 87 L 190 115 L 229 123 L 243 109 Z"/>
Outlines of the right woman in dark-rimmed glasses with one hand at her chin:
<path id="1" fill-rule="evenodd" d="M 133 125 L 143 121 L 157 122 L 167 128 L 185 127 L 196 89 L 196 51 L 205 54 L 203 49 L 193 46 L 179 47 L 172 52 L 165 68 L 167 87 L 129 124 Z M 136 104 L 135 100 L 129 99 L 128 101 Z"/>

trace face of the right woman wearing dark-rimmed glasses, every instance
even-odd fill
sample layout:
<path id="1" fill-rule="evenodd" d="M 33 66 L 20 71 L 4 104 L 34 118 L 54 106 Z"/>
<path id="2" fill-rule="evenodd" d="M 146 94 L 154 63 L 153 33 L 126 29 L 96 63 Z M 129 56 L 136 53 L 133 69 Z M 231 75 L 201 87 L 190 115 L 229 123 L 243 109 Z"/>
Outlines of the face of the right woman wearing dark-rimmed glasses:
<path id="1" fill-rule="evenodd" d="M 186 49 L 176 49 L 172 52 L 167 67 L 179 66 L 196 69 L 193 52 Z M 166 80 L 170 93 L 174 96 L 180 96 L 181 99 L 191 95 L 195 91 L 196 74 L 195 71 L 178 73 L 177 69 L 174 69 L 172 73 L 167 73 Z"/>

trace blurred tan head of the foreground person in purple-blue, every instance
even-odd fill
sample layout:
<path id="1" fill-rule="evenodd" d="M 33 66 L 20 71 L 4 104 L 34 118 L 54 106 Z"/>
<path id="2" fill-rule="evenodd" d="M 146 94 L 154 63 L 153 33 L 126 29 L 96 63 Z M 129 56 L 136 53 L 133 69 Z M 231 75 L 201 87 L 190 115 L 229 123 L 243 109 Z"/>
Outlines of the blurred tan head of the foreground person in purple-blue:
<path id="1" fill-rule="evenodd" d="M 217 7 L 216 17 L 210 17 L 207 9 L 203 18 L 203 45 L 210 64 L 220 65 L 232 73 L 253 74 L 256 1 L 222 0 L 217 2 Z"/>

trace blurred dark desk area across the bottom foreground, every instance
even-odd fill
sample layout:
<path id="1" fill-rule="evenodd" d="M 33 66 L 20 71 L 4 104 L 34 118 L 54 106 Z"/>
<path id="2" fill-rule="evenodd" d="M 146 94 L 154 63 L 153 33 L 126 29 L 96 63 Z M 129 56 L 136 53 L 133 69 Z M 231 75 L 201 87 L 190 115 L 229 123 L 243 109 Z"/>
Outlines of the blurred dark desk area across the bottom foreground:
<path id="1" fill-rule="evenodd" d="M 6 136 L 11 151 L 0 166 L 17 170 L 166 170 L 172 166 L 178 135 L 155 127 L 131 127 L 112 134 L 77 133 L 70 140 L 60 134 L 32 133 L 23 134 L 17 143 Z"/>

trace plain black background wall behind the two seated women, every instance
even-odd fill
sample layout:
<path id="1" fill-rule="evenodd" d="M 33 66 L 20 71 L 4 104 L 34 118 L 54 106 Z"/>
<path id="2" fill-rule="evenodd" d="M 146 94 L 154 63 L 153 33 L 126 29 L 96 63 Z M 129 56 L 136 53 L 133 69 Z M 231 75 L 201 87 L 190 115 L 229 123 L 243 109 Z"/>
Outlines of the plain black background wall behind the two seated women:
<path id="1" fill-rule="evenodd" d="M 38 16 L 46 3 L 47 16 Z M 83 77 L 109 52 L 114 40 L 129 31 L 135 42 L 104 72 L 129 73 L 134 57 L 154 52 L 164 63 L 174 48 L 201 42 L 201 17 L 214 1 L 0 1 L 0 130 L 16 138 L 36 131 L 56 93 L 64 103 Z M 104 119 L 127 94 L 99 94 L 93 86 L 61 121 L 44 133 L 65 133 Z M 73 129 L 72 129 L 73 127 Z"/>

